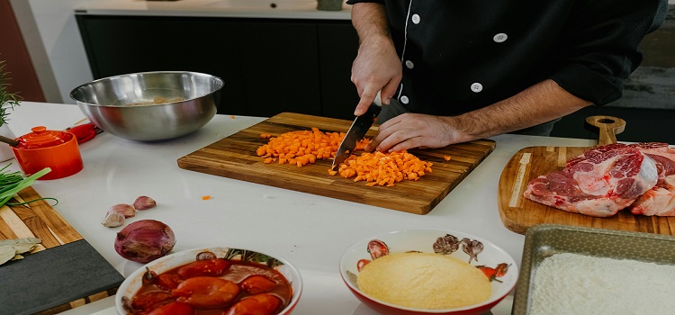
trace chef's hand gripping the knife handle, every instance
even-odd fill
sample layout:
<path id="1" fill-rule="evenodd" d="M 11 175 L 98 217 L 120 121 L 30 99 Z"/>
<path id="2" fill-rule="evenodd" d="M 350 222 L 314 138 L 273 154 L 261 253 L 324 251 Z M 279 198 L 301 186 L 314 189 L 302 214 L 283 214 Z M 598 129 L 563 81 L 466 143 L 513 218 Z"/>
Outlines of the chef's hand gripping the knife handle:
<path id="1" fill-rule="evenodd" d="M 401 82 L 402 71 L 401 59 L 391 39 L 372 37 L 363 41 L 352 65 L 352 82 L 361 97 L 354 114 L 364 114 L 381 91 L 383 104 L 388 104 Z"/>

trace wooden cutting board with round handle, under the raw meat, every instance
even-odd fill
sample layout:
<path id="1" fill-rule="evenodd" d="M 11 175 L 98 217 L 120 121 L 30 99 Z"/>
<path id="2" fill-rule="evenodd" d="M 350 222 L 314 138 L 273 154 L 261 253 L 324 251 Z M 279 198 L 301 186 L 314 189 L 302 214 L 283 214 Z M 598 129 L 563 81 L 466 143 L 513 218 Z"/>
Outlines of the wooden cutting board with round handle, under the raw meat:
<path id="1" fill-rule="evenodd" d="M 598 145 L 616 143 L 616 134 L 626 127 L 626 121 L 616 117 L 592 116 L 586 121 L 599 128 Z M 528 147 L 520 149 L 511 157 L 501 173 L 498 191 L 500 217 L 504 226 L 520 234 L 525 234 L 528 228 L 537 224 L 557 223 L 675 235 L 675 217 L 634 215 L 624 210 L 608 218 L 596 218 L 555 209 L 523 196 L 530 180 L 563 169 L 568 159 L 590 148 Z"/>

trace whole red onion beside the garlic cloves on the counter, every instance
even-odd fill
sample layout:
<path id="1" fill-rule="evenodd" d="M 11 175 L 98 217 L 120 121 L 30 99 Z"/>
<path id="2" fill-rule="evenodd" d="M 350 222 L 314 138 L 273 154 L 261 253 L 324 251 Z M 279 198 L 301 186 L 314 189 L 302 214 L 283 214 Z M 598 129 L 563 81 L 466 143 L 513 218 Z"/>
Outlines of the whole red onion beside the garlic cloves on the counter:
<path id="1" fill-rule="evenodd" d="M 174 231 L 158 220 L 135 221 L 115 238 L 115 251 L 121 257 L 143 264 L 165 256 L 174 245 Z"/>

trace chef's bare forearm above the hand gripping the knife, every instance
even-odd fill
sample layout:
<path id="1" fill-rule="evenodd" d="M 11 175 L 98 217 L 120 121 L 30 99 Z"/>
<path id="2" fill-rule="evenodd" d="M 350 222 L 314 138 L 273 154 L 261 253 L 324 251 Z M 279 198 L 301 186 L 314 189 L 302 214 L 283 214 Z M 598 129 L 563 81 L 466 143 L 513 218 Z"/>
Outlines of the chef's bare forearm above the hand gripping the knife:
<path id="1" fill-rule="evenodd" d="M 389 22 L 383 4 L 358 3 L 352 6 L 352 24 L 358 33 L 359 42 L 371 40 L 390 42 Z"/>

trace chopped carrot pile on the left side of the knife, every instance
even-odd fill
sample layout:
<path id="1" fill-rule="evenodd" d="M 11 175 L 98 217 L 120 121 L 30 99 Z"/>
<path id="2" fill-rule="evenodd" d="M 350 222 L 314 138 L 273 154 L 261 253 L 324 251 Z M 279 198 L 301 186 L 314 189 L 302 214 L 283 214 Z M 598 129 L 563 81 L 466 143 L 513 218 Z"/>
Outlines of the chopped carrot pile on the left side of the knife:
<path id="1" fill-rule="evenodd" d="M 269 164 L 278 161 L 279 164 L 291 164 L 298 167 L 314 163 L 319 158 L 333 158 L 344 132 L 323 132 L 318 128 L 285 132 L 278 137 L 263 133 L 261 139 L 269 139 L 267 144 L 257 148 L 258 157 L 265 158 Z M 359 141 L 356 148 L 363 149 L 368 139 Z"/>

